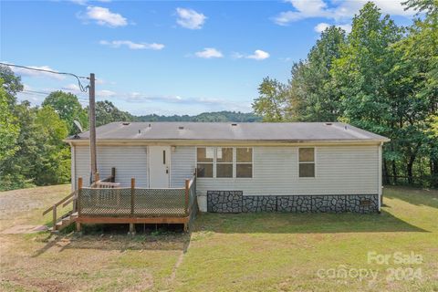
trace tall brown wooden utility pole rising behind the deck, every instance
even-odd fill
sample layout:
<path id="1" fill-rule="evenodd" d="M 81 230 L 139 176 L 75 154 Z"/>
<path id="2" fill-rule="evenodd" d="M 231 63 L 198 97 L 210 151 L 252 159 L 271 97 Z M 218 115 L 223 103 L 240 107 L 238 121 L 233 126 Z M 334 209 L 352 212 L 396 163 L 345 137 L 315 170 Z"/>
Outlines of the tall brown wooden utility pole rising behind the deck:
<path id="1" fill-rule="evenodd" d="M 90 183 L 96 179 L 98 163 L 96 159 L 96 88 L 94 73 L 89 74 L 89 159 L 91 162 Z"/>

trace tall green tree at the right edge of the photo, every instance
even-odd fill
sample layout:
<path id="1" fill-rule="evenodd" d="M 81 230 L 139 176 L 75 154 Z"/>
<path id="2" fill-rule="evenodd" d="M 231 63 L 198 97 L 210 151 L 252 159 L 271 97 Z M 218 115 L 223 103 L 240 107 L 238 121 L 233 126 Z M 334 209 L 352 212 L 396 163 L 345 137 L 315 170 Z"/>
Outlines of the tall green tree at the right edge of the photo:
<path id="1" fill-rule="evenodd" d="M 410 182 L 415 159 L 426 157 L 434 186 L 438 186 L 438 137 L 433 133 L 438 115 L 438 3 L 407 3 L 426 11 L 426 16 L 417 19 L 409 35 L 394 46 L 400 56 L 394 72 L 400 76 L 399 87 L 405 96 L 400 114 L 401 147 L 407 155 Z"/>

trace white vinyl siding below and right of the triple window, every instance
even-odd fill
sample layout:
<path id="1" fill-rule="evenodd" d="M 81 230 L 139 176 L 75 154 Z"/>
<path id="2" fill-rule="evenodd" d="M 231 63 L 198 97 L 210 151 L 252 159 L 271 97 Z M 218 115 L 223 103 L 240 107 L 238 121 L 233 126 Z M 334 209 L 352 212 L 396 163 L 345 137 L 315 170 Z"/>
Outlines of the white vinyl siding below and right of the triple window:
<path id="1" fill-rule="evenodd" d="M 254 147 L 254 177 L 201 178 L 207 191 L 243 191 L 244 195 L 378 193 L 379 146 L 318 146 L 316 177 L 298 178 L 297 147 Z"/>

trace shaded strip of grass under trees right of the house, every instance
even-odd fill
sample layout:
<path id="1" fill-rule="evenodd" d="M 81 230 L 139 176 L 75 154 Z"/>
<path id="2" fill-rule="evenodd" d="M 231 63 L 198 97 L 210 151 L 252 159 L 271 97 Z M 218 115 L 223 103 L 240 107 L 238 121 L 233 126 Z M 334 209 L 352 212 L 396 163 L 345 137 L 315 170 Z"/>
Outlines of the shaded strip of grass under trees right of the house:
<path id="1" fill-rule="evenodd" d="M 430 206 L 438 209 L 438 190 L 424 190 L 412 187 L 385 187 L 383 197 L 399 199 L 418 206 Z"/>

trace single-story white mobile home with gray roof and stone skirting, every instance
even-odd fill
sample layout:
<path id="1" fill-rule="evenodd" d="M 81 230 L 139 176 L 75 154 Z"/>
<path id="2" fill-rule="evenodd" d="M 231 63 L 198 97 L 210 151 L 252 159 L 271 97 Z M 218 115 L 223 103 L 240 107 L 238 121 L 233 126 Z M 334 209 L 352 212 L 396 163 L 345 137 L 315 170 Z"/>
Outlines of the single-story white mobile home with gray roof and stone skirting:
<path id="1" fill-rule="evenodd" d="M 73 188 L 89 183 L 89 132 L 69 137 Z M 112 122 L 97 129 L 100 177 L 177 188 L 197 170 L 203 212 L 381 209 L 381 146 L 389 139 L 339 122 Z"/>

